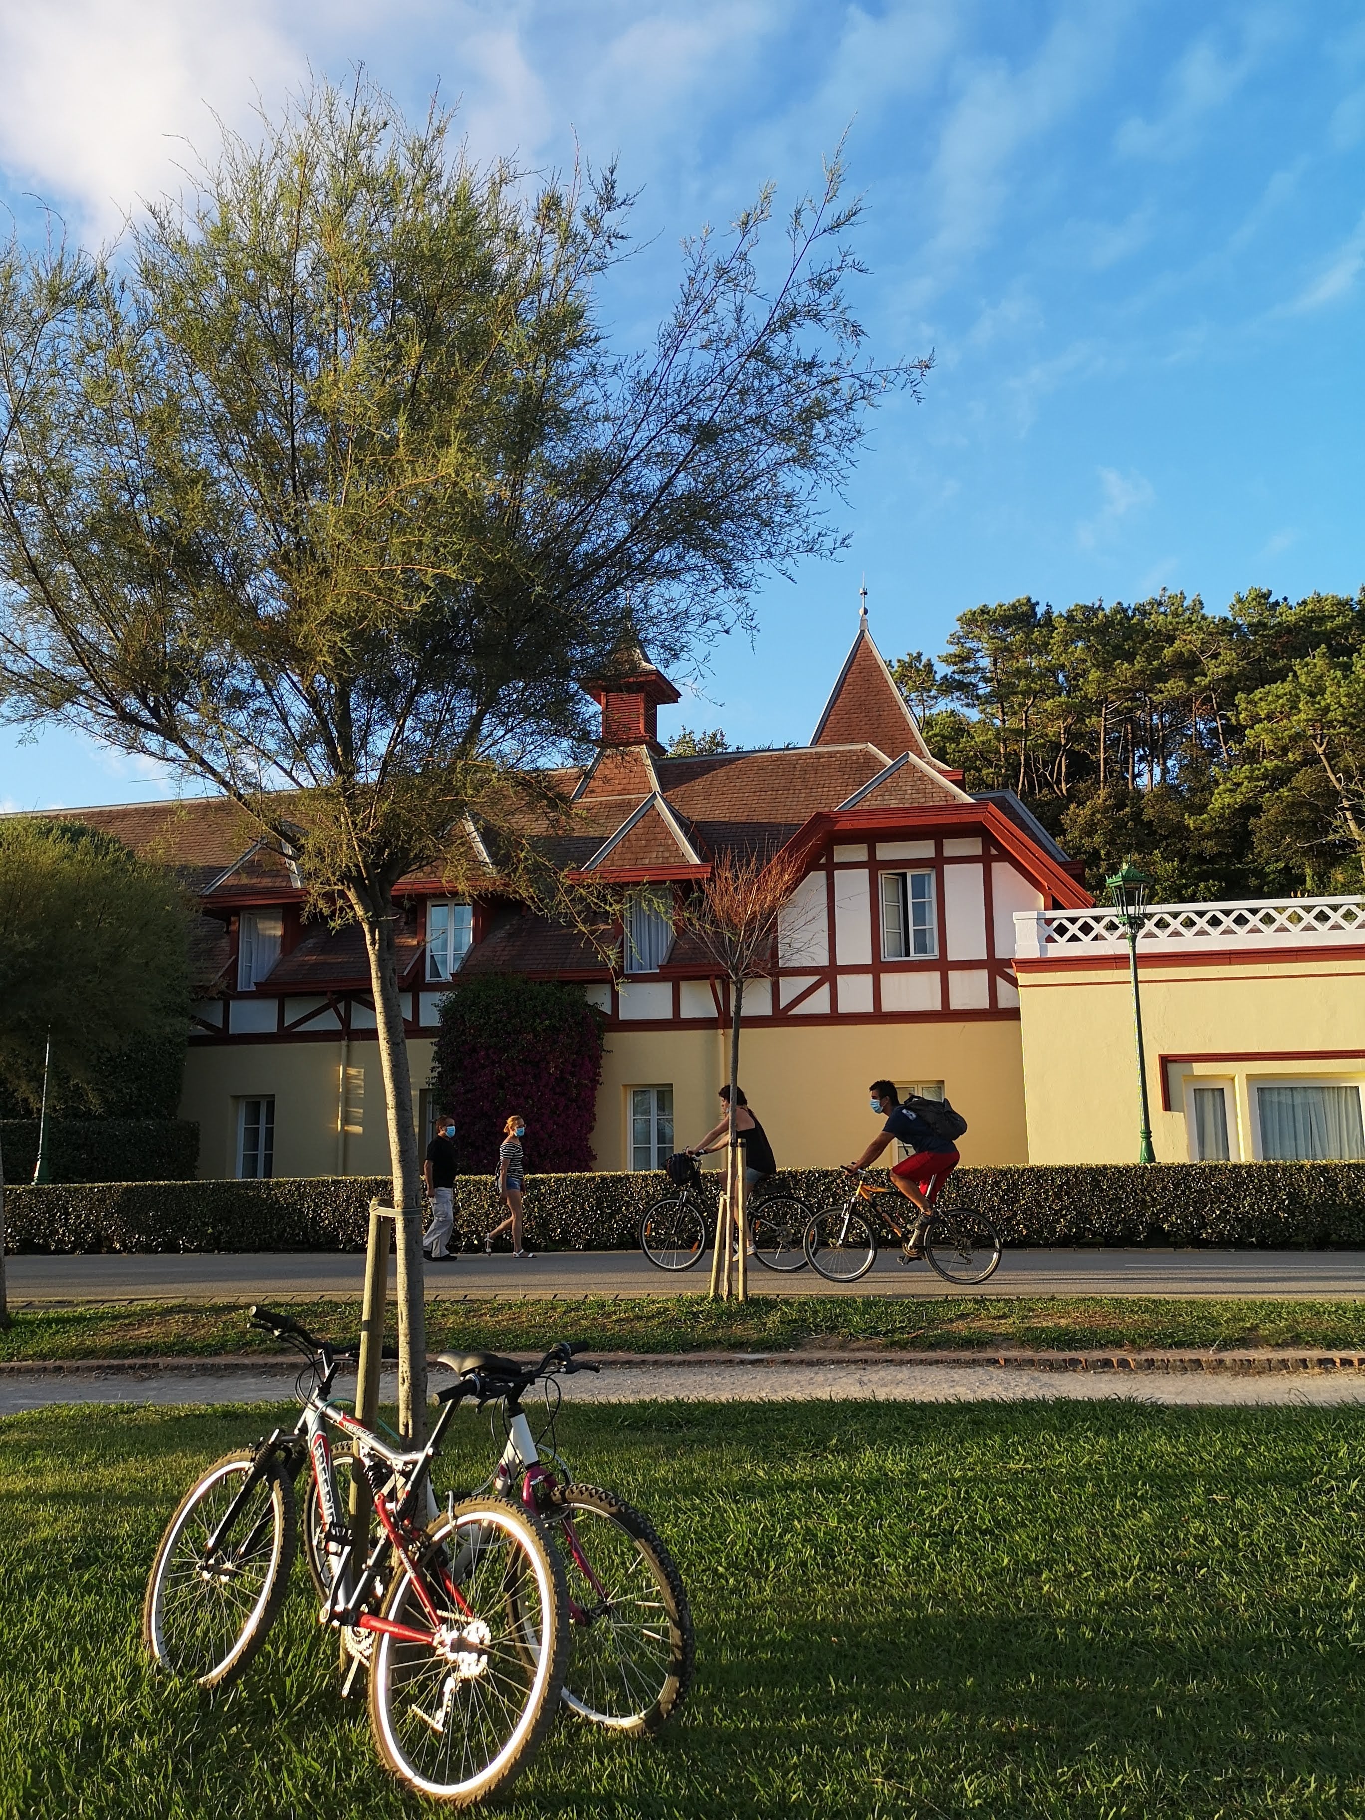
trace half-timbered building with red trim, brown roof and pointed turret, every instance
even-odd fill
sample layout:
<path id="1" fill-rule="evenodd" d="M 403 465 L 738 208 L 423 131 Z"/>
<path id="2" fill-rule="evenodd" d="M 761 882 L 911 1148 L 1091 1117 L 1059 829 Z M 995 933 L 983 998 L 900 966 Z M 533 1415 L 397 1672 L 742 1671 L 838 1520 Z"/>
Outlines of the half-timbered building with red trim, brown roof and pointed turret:
<path id="1" fill-rule="evenodd" d="M 976 1163 L 1028 1158 L 1016 915 L 1090 905 L 1077 868 L 1008 792 L 970 795 L 926 748 L 866 615 L 808 744 L 668 757 L 677 690 L 641 653 L 588 684 L 597 757 L 557 774 L 564 864 L 626 894 L 621 952 L 493 892 L 404 881 L 400 965 L 413 1079 L 428 1081 L 440 999 L 499 970 L 579 985 L 606 1014 L 599 1168 L 653 1168 L 715 1117 L 728 997 L 661 895 L 728 850 L 794 848 L 804 875 L 777 968 L 744 994 L 741 1081 L 779 1163 L 863 1147 L 877 1076 L 948 1090 Z M 288 854 L 220 799 L 82 810 L 180 868 L 213 930 L 218 983 L 197 1006 L 182 1116 L 206 1176 L 382 1174 L 375 1008 L 359 932 L 304 919 Z M 470 841 L 479 844 L 475 828 Z M 528 1108 L 531 1110 L 531 1108 Z M 420 1096 L 420 1121 L 431 1112 Z M 533 1163 L 533 1156 L 530 1158 Z M 488 1159 L 490 1168 L 493 1158 Z"/>

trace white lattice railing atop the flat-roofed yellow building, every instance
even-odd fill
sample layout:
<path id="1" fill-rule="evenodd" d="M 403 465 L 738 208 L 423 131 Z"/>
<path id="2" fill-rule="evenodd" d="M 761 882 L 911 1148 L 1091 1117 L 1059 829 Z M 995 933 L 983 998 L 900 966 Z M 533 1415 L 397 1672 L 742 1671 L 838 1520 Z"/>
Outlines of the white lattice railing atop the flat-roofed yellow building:
<path id="1" fill-rule="evenodd" d="M 1016 912 L 1014 952 L 1045 956 L 1127 946 L 1116 910 Z M 1365 941 L 1365 897 L 1281 897 L 1221 905 L 1152 905 L 1139 948 L 1283 948 Z"/>

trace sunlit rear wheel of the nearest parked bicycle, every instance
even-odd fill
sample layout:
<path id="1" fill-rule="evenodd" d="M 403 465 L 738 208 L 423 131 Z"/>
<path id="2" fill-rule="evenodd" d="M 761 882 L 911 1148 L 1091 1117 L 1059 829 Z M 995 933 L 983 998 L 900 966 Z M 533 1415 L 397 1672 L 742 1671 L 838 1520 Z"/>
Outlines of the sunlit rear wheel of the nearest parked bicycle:
<path id="1" fill-rule="evenodd" d="M 369 1724 L 384 1764 L 459 1807 L 506 1787 L 564 1684 L 564 1572 L 541 1525 L 500 1498 L 457 1503 L 417 1571 L 397 1572 L 382 1616 L 406 1633 L 375 1638 Z"/>

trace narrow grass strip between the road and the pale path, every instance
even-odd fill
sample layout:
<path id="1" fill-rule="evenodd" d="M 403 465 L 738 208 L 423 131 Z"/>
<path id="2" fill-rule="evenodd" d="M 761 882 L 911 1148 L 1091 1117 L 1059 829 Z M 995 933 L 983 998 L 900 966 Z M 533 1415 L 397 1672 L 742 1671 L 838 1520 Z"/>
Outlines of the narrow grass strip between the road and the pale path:
<path id="1" fill-rule="evenodd" d="M 277 1299 L 333 1338 L 359 1330 L 357 1301 Z M 1365 1301 L 1238 1301 L 1176 1296 L 584 1296 L 559 1301 L 431 1298 L 426 1336 L 450 1347 L 533 1350 L 582 1340 L 599 1352 L 914 1347 L 1323 1347 L 1365 1349 Z M 24 1309 L 0 1332 L 0 1360 L 149 1358 L 277 1352 L 240 1303 L 122 1303 Z"/>

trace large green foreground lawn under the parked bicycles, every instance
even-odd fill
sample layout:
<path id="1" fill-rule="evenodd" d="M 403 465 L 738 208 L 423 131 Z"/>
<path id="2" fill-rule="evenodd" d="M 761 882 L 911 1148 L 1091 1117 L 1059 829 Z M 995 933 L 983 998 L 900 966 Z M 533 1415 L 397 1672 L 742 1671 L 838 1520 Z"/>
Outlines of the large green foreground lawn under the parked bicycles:
<path id="1" fill-rule="evenodd" d="M 160 1527 L 262 1410 L 0 1421 L 0 1813 L 419 1815 L 335 1698 L 297 1582 L 228 1696 L 138 1654 Z M 562 1724 L 497 1811 L 1365 1815 L 1365 1414 L 1143 1405 L 622 1405 L 561 1418 L 692 1589 L 657 1744 Z M 490 1460 L 462 1416 L 446 1476 Z"/>

